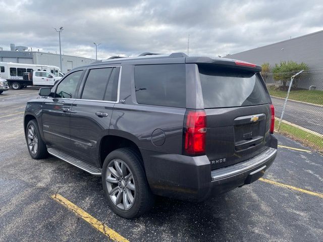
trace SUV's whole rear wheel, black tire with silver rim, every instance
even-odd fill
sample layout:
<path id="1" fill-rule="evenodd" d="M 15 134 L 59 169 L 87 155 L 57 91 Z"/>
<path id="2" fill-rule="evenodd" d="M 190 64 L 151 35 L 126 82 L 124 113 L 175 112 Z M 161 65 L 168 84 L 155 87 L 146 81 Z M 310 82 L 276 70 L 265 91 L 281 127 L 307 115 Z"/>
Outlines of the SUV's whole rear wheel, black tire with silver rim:
<path id="1" fill-rule="evenodd" d="M 123 173 L 117 171 L 117 165 Z M 102 167 L 102 185 L 111 209 L 123 218 L 139 217 L 153 206 L 153 195 L 142 160 L 134 149 L 121 148 L 106 156 Z"/>

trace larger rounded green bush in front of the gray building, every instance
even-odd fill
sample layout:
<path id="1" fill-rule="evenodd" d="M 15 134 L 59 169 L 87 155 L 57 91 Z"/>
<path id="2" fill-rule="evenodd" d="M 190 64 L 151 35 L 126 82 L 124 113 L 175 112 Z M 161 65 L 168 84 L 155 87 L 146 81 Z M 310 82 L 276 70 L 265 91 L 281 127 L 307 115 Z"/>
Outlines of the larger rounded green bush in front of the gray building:
<path id="1" fill-rule="evenodd" d="M 285 90 L 287 87 L 287 82 L 291 80 L 291 77 L 298 73 L 301 70 L 308 70 L 308 66 L 305 63 L 297 64 L 296 62 L 293 61 L 288 61 L 288 62 L 281 62 L 280 65 L 275 64 L 275 67 L 273 68 L 273 73 L 274 73 L 274 80 L 275 81 L 281 81 L 283 84 L 283 89 Z M 299 79 L 303 75 L 300 74 L 297 76 L 297 79 Z M 293 81 L 293 86 L 297 87 L 297 80 Z"/>

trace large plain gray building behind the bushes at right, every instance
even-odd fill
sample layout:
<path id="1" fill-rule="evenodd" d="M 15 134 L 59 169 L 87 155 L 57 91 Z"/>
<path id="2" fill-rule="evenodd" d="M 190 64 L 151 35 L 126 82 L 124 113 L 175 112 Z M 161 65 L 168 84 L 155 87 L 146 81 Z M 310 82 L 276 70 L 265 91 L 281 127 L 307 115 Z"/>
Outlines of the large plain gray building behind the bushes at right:
<path id="1" fill-rule="evenodd" d="M 323 88 L 323 30 L 225 57 L 257 65 L 269 63 L 272 68 L 281 61 L 304 62 L 310 73 L 307 74 L 308 81 L 302 88 L 308 89 L 311 85 L 317 89 Z M 267 83 L 273 82 L 273 78 L 267 79 Z"/>

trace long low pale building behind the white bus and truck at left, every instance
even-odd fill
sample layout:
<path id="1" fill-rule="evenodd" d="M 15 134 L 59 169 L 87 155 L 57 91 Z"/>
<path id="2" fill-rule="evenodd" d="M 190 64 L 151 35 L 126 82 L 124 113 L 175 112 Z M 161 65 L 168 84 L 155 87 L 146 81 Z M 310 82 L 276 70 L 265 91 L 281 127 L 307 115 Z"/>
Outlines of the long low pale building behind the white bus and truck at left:
<path id="1" fill-rule="evenodd" d="M 26 46 L 10 45 L 10 50 L 0 49 L 0 62 L 50 65 L 60 67 L 60 54 L 28 50 Z M 62 72 L 88 65 L 95 59 L 62 54 Z"/>

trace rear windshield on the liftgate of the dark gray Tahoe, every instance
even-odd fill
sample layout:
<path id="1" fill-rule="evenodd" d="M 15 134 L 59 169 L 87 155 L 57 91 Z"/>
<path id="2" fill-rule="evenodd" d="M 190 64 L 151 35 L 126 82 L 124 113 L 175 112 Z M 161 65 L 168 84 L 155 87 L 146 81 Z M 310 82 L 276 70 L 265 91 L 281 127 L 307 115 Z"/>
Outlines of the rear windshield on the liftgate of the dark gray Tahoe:
<path id="1" fill-rule="evenodd" d="M 198 67 L 204 107 L 239 107 L 270 103 L 258 74 L 233 69 Z"/>

